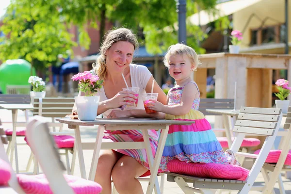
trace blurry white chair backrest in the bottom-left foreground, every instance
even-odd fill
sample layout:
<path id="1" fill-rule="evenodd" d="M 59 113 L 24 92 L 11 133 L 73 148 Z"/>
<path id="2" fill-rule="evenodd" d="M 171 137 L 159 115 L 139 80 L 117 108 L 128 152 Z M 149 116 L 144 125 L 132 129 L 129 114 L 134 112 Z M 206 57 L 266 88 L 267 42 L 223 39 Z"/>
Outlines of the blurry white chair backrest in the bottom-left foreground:
<path id="1" fill-rule="evenodd" d="M 44 118 L 33 116 L 27 125 L 26 138 L 37 161 L 43 169 L 49 186 L 55 194 L 74 194 L 64 178 L 65 166 L 54 139 L 49 134 L 49 127 Z"/>

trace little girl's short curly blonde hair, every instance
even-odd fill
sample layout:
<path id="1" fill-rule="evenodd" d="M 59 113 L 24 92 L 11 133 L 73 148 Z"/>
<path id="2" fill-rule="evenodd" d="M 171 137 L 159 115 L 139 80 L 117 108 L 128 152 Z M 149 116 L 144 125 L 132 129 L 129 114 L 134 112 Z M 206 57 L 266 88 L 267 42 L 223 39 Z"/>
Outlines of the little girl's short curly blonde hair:
<path id="1" fill-rule="evenodd" d="M 200 61 L 198 59 L 198 55 L 195 52 L 194 49 L 191 47 L 184 45 L 182 43 L 178 43 L 176 45 L 172 45 L 168 48 L 166 55 L 164 56 L 163 63 L 166 67 L 169 66 L 169 60 L 171 55 L 186 55 L 190 61 L 191 64 L 194 65 L 194 71 L 197 69 L 198 65 L 200 65 Z"/>

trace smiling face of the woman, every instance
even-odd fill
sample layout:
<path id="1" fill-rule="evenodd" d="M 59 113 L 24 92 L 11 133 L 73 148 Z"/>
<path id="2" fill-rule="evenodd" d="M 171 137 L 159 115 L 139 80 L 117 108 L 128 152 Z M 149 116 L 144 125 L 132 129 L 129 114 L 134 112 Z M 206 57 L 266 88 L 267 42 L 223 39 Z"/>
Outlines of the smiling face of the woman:
<path id="1" fill-rule="evenodd" d="M 108 69 L 122 72 L 132 62 L 134 46 L 127 41 L 114 43 L 106 51 L 106 65 Z"/>

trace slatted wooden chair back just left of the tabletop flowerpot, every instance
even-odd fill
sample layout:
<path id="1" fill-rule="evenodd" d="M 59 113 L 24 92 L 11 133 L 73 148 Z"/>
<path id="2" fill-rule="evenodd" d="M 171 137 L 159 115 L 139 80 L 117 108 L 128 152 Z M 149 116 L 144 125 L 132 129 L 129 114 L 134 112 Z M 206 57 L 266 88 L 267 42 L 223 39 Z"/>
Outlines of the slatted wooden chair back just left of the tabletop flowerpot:
<path id="1" fill-rule="evenodd" d="M 65 117 L 65 115 L 72 113 L 74 103 L 73 97 L 34 98 L 33 115 Z"/>

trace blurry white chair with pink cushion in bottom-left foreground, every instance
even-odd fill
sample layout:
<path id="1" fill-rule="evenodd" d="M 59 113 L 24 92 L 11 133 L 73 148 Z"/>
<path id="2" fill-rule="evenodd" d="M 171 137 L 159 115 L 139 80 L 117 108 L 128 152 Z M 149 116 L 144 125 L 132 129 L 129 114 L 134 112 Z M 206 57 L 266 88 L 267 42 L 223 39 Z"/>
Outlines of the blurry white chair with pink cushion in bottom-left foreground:
<path id="1" fill-rule="evenodd" d="M 44 180 L 45 178 L 42 178 L 44 176 L 39 177 L 37 175 L 23 177 L 23 175 L 16 175 L 16 173 L 12 171 L 8 184 L 17 194 L 25 194 L 24 190 L 29 190 L 31 193 L 74 194 L 73 188 L 77 191 L 77 193 L 79 191 L 79 193 L 81 192 L 82 194 L 98 194 L 101 192 L 101 186 L 93 181 L 64 175 L 65 166 L 60 160 L 60 155 L 56 149 L 56 144 L 49 134 L 49 127 L 44 122 L 43 117 L 33 117 L 27 127 L 27 137 L 30 141 L 32 151 L 42 166 L 45 178 L 48 180 L 49 184 L 46 185 L 46 181 Z M 0 129 L 0 135 L 1 134 Z M 9 164 L 2 140 L 5 140 L 5 137 L 1 135 L 0 159 Z M 20 177 L 19 182 L 17 177 Z M 23 178 L 25 178 L 24 181 L 22 181 Z M 40 179 L 42 184 L 35 184 L 34 182 L 36 179 Z M 68 185 L 67 181 L 70 182 L 72 187 Z M 20 185 L 22 185 L 22 187 Z M 49 191 L 48 187 L 51 191 Z M 2 191 L 8 191 L 12 194 L 13 191 L 8 189 L 9 188 L 7 187 L 0 188 L 0 193 L 2 193 Z"/>

